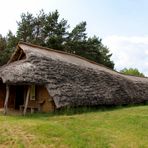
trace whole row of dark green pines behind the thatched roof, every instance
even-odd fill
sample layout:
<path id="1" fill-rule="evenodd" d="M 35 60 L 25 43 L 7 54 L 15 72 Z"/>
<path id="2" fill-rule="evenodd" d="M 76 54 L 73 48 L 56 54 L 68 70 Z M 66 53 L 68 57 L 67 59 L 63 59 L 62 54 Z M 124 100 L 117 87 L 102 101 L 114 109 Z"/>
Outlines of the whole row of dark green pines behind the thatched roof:
<path id="1" fill-rule="evenodd" d="M 77 54 L 107 67 L 114 68 L 110 60 L 112 54 L 97 37 L 88 37 L 86 22 L 81 22 L 69 31 L 69 24 L 65 19 L 59 19 L 58 11 L 45 14 L 43 10 L 36 16 L 27 12 L 21 14 L 21 20 L 17 22 L 16 35 L 9 31 L 6 37 L 6 46 L 14 48 L 19 40 L 30 42 L 56 50 L 62 50 Z M 0 44 L 1 45 L 1 44 Z"/>

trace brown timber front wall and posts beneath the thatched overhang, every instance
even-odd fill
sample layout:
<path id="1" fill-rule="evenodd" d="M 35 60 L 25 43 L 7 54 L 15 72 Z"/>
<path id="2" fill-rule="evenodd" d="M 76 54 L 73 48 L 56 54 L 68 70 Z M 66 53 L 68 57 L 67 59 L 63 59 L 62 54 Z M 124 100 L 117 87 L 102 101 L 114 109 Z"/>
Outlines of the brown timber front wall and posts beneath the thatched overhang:
<path id="1" fill-rule="evenodd" d="M 8 113 L 8 108 L 13 110 L 20 111 L 22 115 L 26 115 L 27 112 L 34 113 L 34 112 L 49 112 L 55 110 L 55 105 L 53 103 L 52 97 L 48 94 L 45 86 L 33 86 L 35 88 L 35 98 L 32 99 L 31 97 L 31 88 L 32 85 L 22 85 L 22 86 L 11 86 L 6 85 L 6 95 L 4 101 L 4 114 Z M 13 88 L 13 89 L 12 89 Z M 17 95 L 22 93 L 19 92 L 18 89 L 23 89 L 23 94 L 21 96 Z M 13 94 L 12 94 L 13 91 Z M 18 91 L 15 92 L 14 91 Z M 12 95 L 14 95 L 12 97 Z M 23 96 L 23 97 L 22 97 Z M 22 102 L 20 104 L 20 101 Z M 12 104 L 13 103 L 13 104 Z"/>

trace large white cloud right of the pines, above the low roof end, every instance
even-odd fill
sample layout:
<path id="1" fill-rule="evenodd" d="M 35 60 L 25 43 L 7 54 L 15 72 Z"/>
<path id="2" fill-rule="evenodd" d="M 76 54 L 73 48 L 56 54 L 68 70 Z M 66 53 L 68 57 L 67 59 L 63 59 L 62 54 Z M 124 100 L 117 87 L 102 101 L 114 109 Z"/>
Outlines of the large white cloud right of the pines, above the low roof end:
<path id="1" fill-rule="evenodd" d="M 103 40 L 113 53 L 115 68 L 138 68 L 148 76 L 148 36 L 109 36 Z"/>

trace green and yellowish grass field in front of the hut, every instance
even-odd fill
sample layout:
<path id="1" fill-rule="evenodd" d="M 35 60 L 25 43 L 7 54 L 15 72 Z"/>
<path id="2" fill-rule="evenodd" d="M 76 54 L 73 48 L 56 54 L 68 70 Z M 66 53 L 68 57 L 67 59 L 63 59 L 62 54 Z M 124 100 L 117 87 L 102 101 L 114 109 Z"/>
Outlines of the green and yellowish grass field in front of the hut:
<path id="1" fill-rule="evenodd" d="M 148 147 L 147 105 L 78 113 L 0 115 L 0 147 Z"/>

